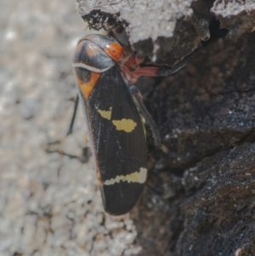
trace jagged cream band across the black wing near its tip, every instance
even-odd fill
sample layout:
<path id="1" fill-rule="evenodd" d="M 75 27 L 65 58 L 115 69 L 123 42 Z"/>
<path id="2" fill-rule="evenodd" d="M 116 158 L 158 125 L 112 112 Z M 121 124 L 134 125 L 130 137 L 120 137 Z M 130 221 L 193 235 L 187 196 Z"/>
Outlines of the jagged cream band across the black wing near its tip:
<path id="1" fill-rule="evenodd" d="M 127 175 L 117 175 L 114 179 L 107 179 L 104 185 L 114 185 L 115 183 L 120 183 L 121 181 L 127 181 L 127 183 L 141 183 L 143 184 L 147 179 L 147 169 L 140 168 L 139 172 L 134 172 L 133 174 Z"/>

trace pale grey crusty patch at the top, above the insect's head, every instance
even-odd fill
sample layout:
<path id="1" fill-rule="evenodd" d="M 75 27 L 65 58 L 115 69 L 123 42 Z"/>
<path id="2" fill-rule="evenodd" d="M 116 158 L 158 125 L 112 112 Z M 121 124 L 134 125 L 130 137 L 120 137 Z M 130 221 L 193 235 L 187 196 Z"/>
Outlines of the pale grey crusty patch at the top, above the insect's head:
<path id="1" fill-rule="evenodd" d="M 129 41 L 138 41 L 157 37 L 172 37 L 178 19 L 188 14 L 193 0 L 150 1 L 150 0 L 77 0 L 78 11 L 84 15 L 92 11 L 111 14 L 116 20 L 123 20 L 129 33 Z M 122 22 L 123 22 L 122 21 Z"/>

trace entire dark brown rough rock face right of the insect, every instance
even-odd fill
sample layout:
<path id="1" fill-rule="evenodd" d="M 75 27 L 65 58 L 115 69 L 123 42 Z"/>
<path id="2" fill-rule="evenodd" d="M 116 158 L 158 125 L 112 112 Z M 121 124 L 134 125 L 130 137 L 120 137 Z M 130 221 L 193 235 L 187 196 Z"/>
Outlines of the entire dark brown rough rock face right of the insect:
<path id="1" fill-rule="evenodd" d="M 147 92 L 170 153 L 150 147 L 140 255 L 255 255 L 254 40 L 209 43 Z"/>

